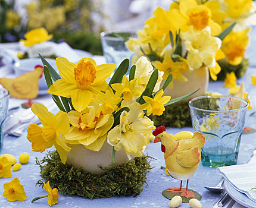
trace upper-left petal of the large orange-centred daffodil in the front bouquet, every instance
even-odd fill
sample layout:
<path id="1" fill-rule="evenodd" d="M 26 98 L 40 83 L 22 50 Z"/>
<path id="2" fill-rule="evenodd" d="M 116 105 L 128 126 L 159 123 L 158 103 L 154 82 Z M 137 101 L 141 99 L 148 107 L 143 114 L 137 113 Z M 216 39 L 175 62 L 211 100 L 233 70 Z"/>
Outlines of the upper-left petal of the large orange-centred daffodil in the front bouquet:
<path id="1" fill-rule="evenodd" d="M 69 62 L 64 57 L 58 57 L 56 58 L 56 65 L 65 82 L 76 84 L 76 80 L 74 80 L 74 68 L 76 68 L 76 64 Z"/>

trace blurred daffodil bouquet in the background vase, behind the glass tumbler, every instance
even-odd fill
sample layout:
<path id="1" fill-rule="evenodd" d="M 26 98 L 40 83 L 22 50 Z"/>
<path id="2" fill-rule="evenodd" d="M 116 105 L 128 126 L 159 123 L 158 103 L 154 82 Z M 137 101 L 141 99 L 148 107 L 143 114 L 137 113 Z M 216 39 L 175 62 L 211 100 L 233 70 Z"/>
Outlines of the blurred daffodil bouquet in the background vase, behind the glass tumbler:
<path id="1" fill-rule="evenodd" d="M 237 64 L 235 56 L 244 52 L 235 49 L 235 45 L 244 47 L 248 44 L 246 40 L 242 40 L 242 45 L 236 44 L 230 31 L 238 20 L 227 15 L 246 16 L 252 4 L 252 1 L 248 2 L 246 8 L 243 5 L 238 7 L 239 14 L 234 11 L 238 1 L 233 0 L 180 0 L 173 1 L 168 11 L 158 7 L 154 17 L 146 20 L 143 30 L 138 31 L 138 38 L 130 38 L 126 42 L 130 51 L 135 52 L 132 61 L 146 56 L 155 68 L 164 72 L 163 78 L 172 73 L 177 81 L 187 81 L 188 77 L 183 73 L 188 70 L 208 67 L 211 78 L 217 80 L 217 74 L 221 71 L 217 61 L 226 55 L 228 60 Z M 226 8 L 226 12 L 223 8 Z M 246 32 L 239 31 L 237 35 L 246 39 L 243 36 Z M 223 40 L 229 33 L 229 38 Z"/>

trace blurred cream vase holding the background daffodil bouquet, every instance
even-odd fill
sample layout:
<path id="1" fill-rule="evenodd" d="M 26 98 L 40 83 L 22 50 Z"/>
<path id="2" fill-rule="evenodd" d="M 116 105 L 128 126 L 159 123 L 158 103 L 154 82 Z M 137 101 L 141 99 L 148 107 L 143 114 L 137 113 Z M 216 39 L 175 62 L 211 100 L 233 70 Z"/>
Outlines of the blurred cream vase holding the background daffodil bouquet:
<path id="1" fill-rule="evenodd" d="M 174 99 L 176 97 L 192 93 L 199 87 L 200 90 L 198 90 L 198 92 L 192 94 L 192 96 L 189 96 L 182 101 L 188 102 L 194 97 L 205 95 L 209 84 L 209 72 L 207 67 L 201 67 L 193 71 L 187 71 L 186 73 L 183 73 L 183 75 L 188 78 L 188 81 L 173 80 L 173 87 L 168 86 L 167 89 L 164 90 L 164 95 L 171 96 L 171 99 Z M 162 81 L 162 83 L 164 83 L 164 81 Z"/>

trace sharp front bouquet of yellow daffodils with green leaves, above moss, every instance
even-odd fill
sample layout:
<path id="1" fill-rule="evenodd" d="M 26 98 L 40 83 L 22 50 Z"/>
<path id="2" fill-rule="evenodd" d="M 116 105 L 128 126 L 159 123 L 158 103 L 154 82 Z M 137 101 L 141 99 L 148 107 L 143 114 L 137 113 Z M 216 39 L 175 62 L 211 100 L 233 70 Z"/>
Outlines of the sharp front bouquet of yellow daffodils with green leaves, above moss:
<path id="1" fill-rule="evenodd" d="M 32 111 L 43 127 L 31 124 L 27 139 L 38 152 L 54 146 L 63 163 L 71 150 L 69 144 L 82 144 L 89 150 L 99 151 L 105 140 L 113 146 L 112 162 L 115 151 L 121 149 L 129 159 L 142 156 L 154 129 L 147 116 L 161 115 L 164 106 L 195 93 L 173 100 L 163 96 L 172 75 L 168 75 L 160 89 L 163 74 L 153 70 L 145 57 L 130 68 L 129 75 L 126 75 L 129 59 L 124 59 L 109 83 L 106 79 L 111 77 L 115 64 L 96 65 L 91 58 L 73 64 L 59 57 L 56 59 L 59 75 L 40 57 L 45 65 L 48 93 L 60 111 L 54 115 L 45 106 L 34 103 Z"/>

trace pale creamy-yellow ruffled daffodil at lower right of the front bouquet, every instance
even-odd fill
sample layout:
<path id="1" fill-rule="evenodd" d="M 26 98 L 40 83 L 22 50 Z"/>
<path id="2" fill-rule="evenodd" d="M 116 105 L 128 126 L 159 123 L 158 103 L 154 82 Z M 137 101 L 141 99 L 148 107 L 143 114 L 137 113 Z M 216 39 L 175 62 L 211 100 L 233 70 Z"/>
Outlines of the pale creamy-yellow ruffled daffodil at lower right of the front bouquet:
<path id="1" fill-rule="evenodd" d="M 128 108 L 129 112 L 121 113 L 120 124 L 108 132 L 108 143 L 114 146 L 115 151 L 124 149 L 131 159 L 131 156 L 142 156 L 149 143 L 151 130 L 154 129 L 154 122 L 146 116 L 141 118 L 143 111 L 139 109 L 139 103 L 133 102 Z"/>

